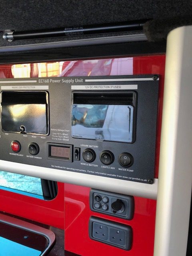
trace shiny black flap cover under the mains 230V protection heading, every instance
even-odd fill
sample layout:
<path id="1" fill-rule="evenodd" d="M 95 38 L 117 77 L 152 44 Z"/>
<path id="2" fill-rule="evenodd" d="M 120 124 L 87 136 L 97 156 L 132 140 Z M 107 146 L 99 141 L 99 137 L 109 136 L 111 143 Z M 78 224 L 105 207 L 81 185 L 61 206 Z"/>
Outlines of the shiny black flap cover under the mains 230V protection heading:
<path id="1" fill-rule="evenodd" d="M 47 92 L 2 92 L 2 130 L 47 134 Z"/>

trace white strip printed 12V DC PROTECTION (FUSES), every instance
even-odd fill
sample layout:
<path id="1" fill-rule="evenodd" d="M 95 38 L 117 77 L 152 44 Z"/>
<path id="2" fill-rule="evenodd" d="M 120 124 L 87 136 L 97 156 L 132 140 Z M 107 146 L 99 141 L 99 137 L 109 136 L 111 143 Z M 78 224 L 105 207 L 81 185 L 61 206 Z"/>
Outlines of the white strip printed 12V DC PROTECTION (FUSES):
<path id="1" fill-rule="evenodd" d="M 137 84 L 72 85 L 72 90 L 137 90 Z"/>

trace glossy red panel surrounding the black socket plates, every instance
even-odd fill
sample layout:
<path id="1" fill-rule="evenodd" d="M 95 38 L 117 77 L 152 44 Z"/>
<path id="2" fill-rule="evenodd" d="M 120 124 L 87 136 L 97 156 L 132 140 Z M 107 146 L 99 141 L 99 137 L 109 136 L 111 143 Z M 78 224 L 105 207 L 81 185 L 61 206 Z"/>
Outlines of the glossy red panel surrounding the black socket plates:
<path id="1" fill-rule="evenodd" d="M 133 220 L 91 212 L 89 207 L 90 188 L 65 184 L 65 250 L 82 256 L 152 256 L 156 201 L 135 197 Z M 132 226 L 133 246 L 125 251 L 89 238 L 90 216 L 98 216 Z"/>

